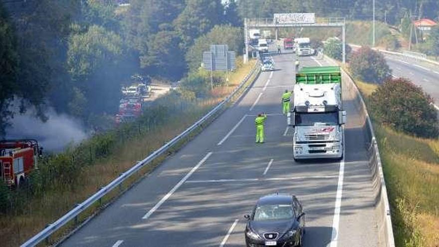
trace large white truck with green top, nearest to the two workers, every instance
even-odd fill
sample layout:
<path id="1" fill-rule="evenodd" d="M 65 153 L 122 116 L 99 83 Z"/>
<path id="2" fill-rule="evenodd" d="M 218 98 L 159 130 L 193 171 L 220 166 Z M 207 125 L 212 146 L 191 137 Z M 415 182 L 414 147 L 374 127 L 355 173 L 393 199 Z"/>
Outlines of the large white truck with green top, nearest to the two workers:
<path id="1" fill-rule="evenodd" d="M 288 114 L 288 124 L 294 126 L 294 160 L 342 159 L 346 112 L 340 68 L 305 67 L 296 80 L 294 106 Z"/>

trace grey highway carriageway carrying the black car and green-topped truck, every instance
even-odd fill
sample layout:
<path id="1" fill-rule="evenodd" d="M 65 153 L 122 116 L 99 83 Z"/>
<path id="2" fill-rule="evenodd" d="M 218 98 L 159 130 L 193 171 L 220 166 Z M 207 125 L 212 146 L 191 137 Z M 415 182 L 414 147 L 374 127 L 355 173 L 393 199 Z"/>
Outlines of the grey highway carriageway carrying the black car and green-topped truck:
<path id="1" fill-rule="evenodd" d="M 369 160 L 351 99 L 344 99 L 344 160 L 295 163 L 292 130 L 280 114 L 282 92 L 293 89 L 295 55 L 273 58 L 276 71 L 261 72 L 238 102 L 61 246 L 242 247 L 243 215 L 275 192 L 302 202 L 304 246 L 378 246 Z M 329 65 L 316 57 L 300 63 Z M 255 144 L 254 118 L 262 112 L 265 143 Z"/>

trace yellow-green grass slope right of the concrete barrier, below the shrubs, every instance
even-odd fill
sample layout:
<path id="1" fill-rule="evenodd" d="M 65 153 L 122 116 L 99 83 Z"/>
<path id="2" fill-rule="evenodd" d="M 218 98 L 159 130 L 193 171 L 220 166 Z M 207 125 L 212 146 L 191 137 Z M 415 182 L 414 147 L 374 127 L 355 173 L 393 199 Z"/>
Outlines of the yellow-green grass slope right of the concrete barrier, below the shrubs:
<path id="1" fill-rule="evenodd" d="M 356 82 L 366 104 L 377 85 Z M 371 113 L 373 115 L 373 113 Z M 373 119 L 372 119 L 373 120 Z M 439 140 L 374 123 L 398 247 L 439 246 Z"/>

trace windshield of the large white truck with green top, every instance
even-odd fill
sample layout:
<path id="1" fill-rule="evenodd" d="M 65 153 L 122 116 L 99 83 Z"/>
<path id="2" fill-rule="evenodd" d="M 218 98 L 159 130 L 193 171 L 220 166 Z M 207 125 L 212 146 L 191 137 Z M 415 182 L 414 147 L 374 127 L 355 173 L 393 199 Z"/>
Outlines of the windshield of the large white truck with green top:
<path id="1" fill-rule="evenodd" d="M 295 113 L 296 126 L 338 125 L 338 112 Z"/>

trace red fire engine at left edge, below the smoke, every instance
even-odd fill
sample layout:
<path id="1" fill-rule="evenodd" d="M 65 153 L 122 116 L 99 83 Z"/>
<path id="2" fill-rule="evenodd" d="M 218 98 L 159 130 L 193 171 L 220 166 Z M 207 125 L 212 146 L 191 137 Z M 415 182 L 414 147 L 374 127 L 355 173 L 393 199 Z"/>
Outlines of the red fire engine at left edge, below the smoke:
<path id="1" fill-rule="evenodd" d="M 25 183 L 29 173 L 37 168 L 42 148 L 33 139 L 0 141 L 0 178 L 9 187 Z"/>

